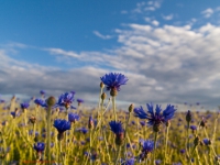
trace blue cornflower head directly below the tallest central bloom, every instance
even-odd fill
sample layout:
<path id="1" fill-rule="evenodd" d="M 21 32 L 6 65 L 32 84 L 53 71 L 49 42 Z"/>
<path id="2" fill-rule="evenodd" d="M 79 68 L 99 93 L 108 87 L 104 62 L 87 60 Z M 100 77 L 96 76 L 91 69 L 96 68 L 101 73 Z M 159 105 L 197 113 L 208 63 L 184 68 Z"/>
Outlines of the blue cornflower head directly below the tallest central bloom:
<path id="1" fill-rule="evenodd" d="M 116 134 L 116 144 L 121 145 L 124 139 L 124 129 L 122 128 L 122 123 L 120 121 L 110 121 L 109 125 L 111 131 Z"/>

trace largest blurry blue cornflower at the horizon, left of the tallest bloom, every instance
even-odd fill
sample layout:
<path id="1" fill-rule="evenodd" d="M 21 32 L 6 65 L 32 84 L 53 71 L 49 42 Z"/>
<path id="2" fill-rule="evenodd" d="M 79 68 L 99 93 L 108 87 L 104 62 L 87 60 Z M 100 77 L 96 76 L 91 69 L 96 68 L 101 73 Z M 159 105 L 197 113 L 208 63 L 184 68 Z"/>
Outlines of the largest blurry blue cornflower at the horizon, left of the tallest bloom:
<path id="1" fill-rule="evenodd" d="M 68 109 L 74 101 L 74 94 L 73 92 L 65 92 L 59 96 L 58 105 Z"/>

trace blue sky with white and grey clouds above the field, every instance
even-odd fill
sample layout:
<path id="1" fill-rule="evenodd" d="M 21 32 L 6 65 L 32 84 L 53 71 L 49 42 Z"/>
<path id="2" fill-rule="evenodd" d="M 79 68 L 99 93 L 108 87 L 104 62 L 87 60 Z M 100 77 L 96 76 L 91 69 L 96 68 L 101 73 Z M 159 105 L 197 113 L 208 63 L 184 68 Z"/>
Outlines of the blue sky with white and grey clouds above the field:
<path id="1" fill-rule="evenodd" d="M 0 22 L 1 98 L 75 90 L 98 103 L 100 77 L 121 73 L 124 107 L 219 106 L 219 1 L 11 0 Z"/>

